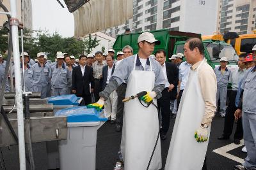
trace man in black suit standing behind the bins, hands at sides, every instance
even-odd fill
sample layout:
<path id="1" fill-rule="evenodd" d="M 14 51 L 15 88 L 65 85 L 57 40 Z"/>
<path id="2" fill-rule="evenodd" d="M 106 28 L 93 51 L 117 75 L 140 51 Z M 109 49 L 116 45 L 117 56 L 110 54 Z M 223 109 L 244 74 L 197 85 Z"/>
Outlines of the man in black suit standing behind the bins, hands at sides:
<path id="1" fill-rule="evenodd" d="M 79 66 L 74 67 L 72 71 L 72 92 L 77 97 L 83 97 L 81 105 L 87 105 L 91 103 L 90 83 L 91 91 L 94 89 L 94 78 L 92 67 L 86 66 L 86 56 L 79 56 Z"/>

